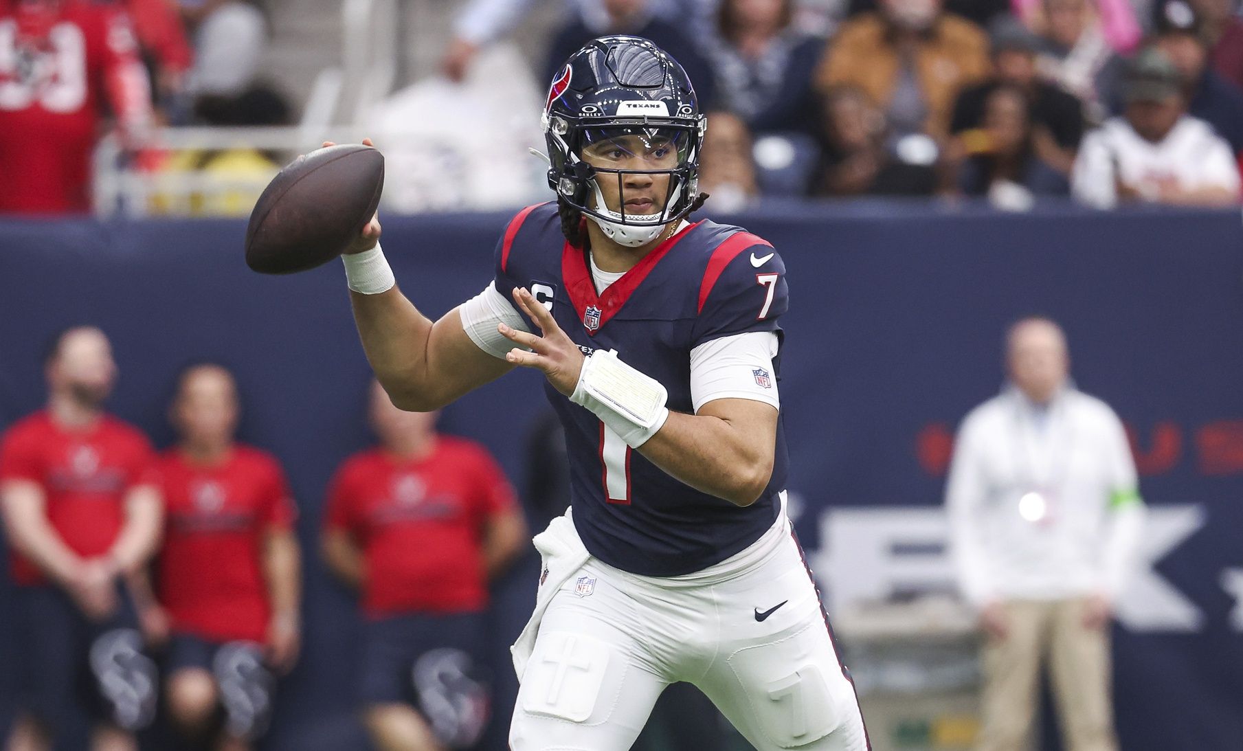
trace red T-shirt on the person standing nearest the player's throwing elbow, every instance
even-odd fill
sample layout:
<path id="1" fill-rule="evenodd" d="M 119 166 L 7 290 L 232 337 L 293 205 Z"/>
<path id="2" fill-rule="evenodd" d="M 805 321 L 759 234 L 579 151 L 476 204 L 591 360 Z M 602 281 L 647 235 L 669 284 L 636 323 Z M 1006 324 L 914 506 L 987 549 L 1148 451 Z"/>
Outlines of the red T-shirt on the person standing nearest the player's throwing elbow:
<path id="1" fill-rule="evenodd" d="M 438 436 L 419 461 L 383 450 L 346 460 L 328 489 L 324 526 L 363 548 L 367 615 L 476 612 L 487 604 L 484 522 L 513 504 L 484 446 Z"/>

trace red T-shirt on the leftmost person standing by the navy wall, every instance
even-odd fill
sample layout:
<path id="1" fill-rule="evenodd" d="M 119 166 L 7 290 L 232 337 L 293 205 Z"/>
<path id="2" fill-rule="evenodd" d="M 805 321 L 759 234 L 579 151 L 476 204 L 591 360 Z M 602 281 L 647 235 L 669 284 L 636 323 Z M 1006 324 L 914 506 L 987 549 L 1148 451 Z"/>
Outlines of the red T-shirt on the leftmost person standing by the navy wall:
<path id="1" fill-rule="evenodd" d="M 37 482 L 47 520 L 65 545 L 83 558 L 112 548 L 124 522 L 126 494 L 154 485 L 155 455 L 147 438 L 104 415 L 93 425 L 70 430 L 47 412 L 19 420 L 0 444 L 0 481 Z M 30 561 L 14 553 L 12 581 L 42 584 L 47 579 Z"/>

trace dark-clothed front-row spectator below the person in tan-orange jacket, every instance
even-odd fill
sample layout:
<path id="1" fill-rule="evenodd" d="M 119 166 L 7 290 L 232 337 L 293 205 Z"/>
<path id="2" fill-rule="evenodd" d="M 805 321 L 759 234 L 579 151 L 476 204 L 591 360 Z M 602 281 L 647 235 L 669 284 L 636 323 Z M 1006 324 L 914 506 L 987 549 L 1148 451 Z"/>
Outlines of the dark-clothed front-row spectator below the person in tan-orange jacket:
<path id="1" fill-rule="evenodd" d="M 813 195 L 932 195 L 935 159 L 904 162 L 885 144 L 885 116 L 861 91 L 834 90 L 824 99 L 824 155 Z M 711 132 L 711 129 L 709 131 Z"/>

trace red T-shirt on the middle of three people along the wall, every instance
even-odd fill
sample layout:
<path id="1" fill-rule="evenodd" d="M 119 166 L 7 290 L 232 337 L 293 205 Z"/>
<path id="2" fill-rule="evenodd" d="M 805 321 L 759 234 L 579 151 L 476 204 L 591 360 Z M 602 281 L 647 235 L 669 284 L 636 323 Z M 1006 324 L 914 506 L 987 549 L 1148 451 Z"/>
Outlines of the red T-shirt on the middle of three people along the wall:
<path id="1" fill-rule="evenodd" d="M 280 463 L 235 445 L 225 461 L 199 465 L 173 449 L 160 459 L 160 477 L 159 601 L 173 630 L 262 642 L 271 618 L 264 536 L 291 528 L 295 516 Z"/>

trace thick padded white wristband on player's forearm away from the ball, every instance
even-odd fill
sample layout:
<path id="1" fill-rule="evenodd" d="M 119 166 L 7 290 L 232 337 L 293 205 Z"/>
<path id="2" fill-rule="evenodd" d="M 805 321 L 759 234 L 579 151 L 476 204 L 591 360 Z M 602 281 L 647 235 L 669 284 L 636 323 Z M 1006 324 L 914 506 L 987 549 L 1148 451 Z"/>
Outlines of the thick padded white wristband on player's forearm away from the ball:
<path id="1" fill-rule="evenodd" d="M 612 349 L 597 349 L 583 361 L 569 400 L 589 409 L 631 449 L 656 434 L 669 419 L 669 392 L 659 380 L 618 359 Z"/>

